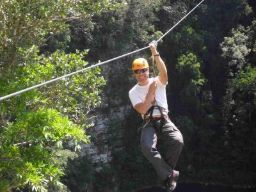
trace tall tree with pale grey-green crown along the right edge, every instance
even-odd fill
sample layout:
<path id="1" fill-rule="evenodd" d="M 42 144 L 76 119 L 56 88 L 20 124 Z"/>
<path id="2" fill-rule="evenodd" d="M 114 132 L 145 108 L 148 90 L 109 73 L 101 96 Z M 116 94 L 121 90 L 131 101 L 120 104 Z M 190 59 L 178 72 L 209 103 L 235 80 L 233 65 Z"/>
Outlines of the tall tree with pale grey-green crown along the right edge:
<path id="1" fill-rule="evenodd" d="M 232 172 L 232 180 L 250 185 L 255 182 L 255 83 L 256 71 L 249 63 L 253 55 L 255 31 L 252 26 L 244 29 L 238 26 L 232 29 L 232 36 L 225 38 L 221 44 L 223 56 L 227 59 L 232 79 L 227 81 L 227 92 L 223 97 L 223 126 L 226 129 L 226 159 L 228 172 Z M 237 171 L 239 170 L 239 172 Z M 241 174 L 244 180 L 241 181 Z M 240 179 L 239 179 L 240 178 Z"/>

